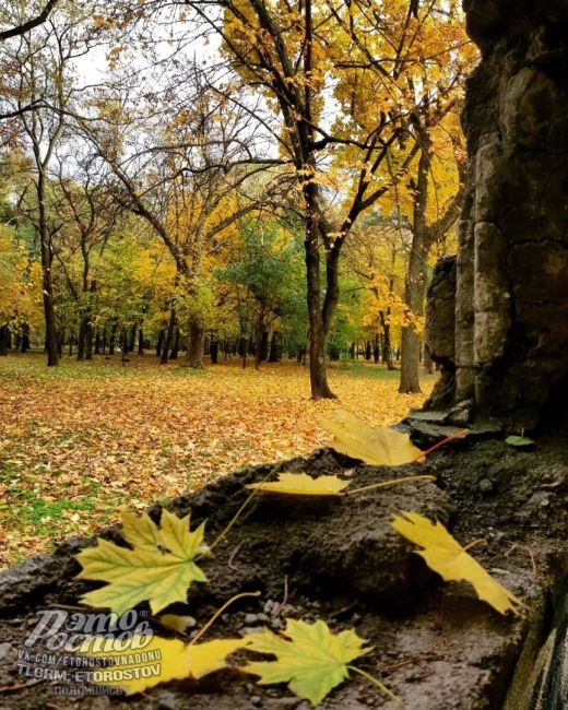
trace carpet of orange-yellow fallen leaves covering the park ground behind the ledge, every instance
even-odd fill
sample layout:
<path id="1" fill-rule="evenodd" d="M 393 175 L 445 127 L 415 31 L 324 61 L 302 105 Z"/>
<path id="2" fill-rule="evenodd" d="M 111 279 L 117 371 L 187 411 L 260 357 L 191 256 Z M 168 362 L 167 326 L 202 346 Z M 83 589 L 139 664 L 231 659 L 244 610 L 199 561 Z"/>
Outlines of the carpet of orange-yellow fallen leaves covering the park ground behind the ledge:
<path id="1" fill-rule="evenodd" d="M 0 566 L 92 534 L 121 509 L 330 443 L 318 413 L 343 406 L 391 424 L 424 400 L 399 394 L 398 372 L 371 364 L 332 367 L 339 401 L 312 402 L 300 365 L 194 371 L 155 360 L 0 358 Z"/>

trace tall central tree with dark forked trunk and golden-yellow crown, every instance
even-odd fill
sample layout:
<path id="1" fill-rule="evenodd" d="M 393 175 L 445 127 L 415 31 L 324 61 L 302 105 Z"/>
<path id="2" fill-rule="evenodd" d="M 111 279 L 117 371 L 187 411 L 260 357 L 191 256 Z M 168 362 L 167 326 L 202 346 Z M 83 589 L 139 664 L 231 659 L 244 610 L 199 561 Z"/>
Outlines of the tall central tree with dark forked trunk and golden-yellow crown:
<path id="1" fill-rule="evenodd" d="M 425 126 L 453 103 L 462 63 L 453 72 L 440 67 L 450 66 L 466 42 L 457 32 L 457 3 L 403 12 L 400 1 L 338 8 L 227 0 L 220 3 L 222 16 L 213 15 L 211 3 L 187 4 L 222 36 L 241 79 L 280 118 L 281 163 L 296 176 L 305 218 L 311 391 L 315 399 L 333 397 L 326 353 L 342 248 L 357 218 L 405 176 Z M 441 26 L 455 44 L 447 37 L 440 44 Z M 438 70 L 433 81 L 431 67 Z M 333 192 L 340 206 L 330 210 Z"/>

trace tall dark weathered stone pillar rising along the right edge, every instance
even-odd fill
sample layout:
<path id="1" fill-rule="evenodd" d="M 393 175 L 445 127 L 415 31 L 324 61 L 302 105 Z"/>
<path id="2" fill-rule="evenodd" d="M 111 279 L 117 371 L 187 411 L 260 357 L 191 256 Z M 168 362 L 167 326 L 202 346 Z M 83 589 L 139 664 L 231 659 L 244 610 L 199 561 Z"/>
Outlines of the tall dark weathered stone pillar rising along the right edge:
<path id="1" fill-rule="evenodd" d="M 463 113 L 451 399 L 532 427 L 568 381 L 568 0 L 464 8 L 482 61 Z"/>

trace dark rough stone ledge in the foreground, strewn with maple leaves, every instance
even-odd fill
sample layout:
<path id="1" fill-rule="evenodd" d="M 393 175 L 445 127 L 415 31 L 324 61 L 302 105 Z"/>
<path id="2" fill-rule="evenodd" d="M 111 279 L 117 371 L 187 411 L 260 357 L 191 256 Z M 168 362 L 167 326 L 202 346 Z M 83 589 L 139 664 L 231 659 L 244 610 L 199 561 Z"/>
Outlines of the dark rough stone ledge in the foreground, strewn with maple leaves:
<path id="1" fill-rule="evenodd" d="M 192 526 L 206 520 L 212 541 L 248 495 L 246 484 L 281 471 L 334 473 L 362 487 L 416 474 L 418 464 L 363 466 L 330 450 L 308 459 L 220 478 L 174 499 Z M 495 710 L 502 706 L 526 632 L 539 618 L 546 632 L 555 595 L 568 579 L 568 440 L 539 440 L 531 452 L 500 440 L 459 440 L 431 454 L 419 473 L 435 482 L 403 483 L 330 500 L 259 496 L 203 564 L 206 584 L 193 584 L 188 605 L 197 628 L 229 597 L 260 591 L 229 607 L 208 638 L 239 635 L 285 618 L 321 618 L 339 631 L 354 628 L 372 651 L 357 665 L 379 677 L 412 710 Z M 528 605 L 520 617 L 500 616 L 464 583 L 443 583 L 390 526 L 393 513 L 413 510 L 447 524 L 472 554 Z M 159 508 L 151 509 L 157 521 Z M 118 541 L 118 531 L 108 539 Z M 76 605 L 95 582 L 75 580 L 73 554 L 91 544 L 68 541 L 52 556 L 32 558 L 0 575 L 0 708 L 144 708 L 307 710 L 285 686 L 258 686 L 234 670 L 200 682 L 162 685 L 129 698 L 56 695 L 55 684 L 17 675 L 17 651 L 36 611 Z M 542 623 L 544 619 L 544 623 Z M 235 664 L 238 665 L 237 655 Z M 27 685 L 29 684 L 29 685 Z M 400 707 L 363 677 L 333 690 L 327 710 Z"/>

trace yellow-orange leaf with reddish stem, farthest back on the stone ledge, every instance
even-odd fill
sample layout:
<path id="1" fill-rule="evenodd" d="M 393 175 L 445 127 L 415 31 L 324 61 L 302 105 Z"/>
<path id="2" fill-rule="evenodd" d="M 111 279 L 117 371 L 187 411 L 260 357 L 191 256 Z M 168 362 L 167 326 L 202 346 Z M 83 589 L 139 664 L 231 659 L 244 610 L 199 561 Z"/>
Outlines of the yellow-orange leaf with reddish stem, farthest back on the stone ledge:
<path id="1" fill-rule="evenodd" d="M 421 459 L 406 434 L 388 426 L 369 426 L 350 412 L 340 410 L 333 417 L 319 417 L 320 424 L 333 434 L 333 448 L 352 459 L 381 466 L 398 466 Z"/>

